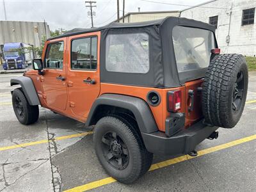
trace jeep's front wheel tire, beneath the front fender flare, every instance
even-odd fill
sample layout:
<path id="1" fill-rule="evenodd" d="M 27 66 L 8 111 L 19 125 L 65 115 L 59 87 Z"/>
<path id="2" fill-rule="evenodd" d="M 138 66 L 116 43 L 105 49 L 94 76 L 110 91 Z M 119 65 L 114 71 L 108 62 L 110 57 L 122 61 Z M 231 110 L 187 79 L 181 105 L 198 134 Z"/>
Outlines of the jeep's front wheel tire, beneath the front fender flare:
<path id="1" fill-rule="evenodd" d="M 20 115 L 17 108 L 17 98 L 20 100 L 21 108 L 23 109 L 22 115 Z M 12 93 L 12 106 L 14 113 L 21 124 L 29 125 L 38 120 L 39 109 L 38 106 L 31 106 L 26 99 L 26 96 L 22 92 L 21 88 L 16 88 Z"/>

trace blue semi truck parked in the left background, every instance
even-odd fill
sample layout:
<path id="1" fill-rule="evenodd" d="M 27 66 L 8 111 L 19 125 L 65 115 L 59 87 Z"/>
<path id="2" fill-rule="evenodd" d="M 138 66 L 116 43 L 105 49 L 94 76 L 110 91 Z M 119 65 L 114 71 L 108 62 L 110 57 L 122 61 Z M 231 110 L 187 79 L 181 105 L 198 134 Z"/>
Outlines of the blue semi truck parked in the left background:
<path id="1" fill-rule="evenodd" d="M 32 63 L 33 52 L 20 53 L 17 49 L 31 47 L 31 45 L 24 43 L 6 43 L 3 47 L 4 70 L 26 68 Z"/>

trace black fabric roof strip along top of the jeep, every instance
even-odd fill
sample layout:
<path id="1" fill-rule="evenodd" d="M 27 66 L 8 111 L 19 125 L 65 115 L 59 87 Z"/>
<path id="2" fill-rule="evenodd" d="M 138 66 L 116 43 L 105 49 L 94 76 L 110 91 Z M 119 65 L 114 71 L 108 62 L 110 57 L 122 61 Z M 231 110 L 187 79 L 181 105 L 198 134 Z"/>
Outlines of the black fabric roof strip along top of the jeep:
<path id="1" fill-rule="evenodd" d="M 106 26 L 102 26 L 100 28 L 74 28 L 71 29 L 70 31 L 66 31 L 62 35 L 50 37 L 47 40 L 53 40 L 65 36 L 72 36 L 72 35 L 79 35 L 83 33 L 90 33 L 90 32 L 95 32 L 95 31 L 102 31 L 104 29 L 116 29 L 116 28 L 143 28 L 143 27 L 148 27 L 148 26 L 161 26 L 166 23 L 172 23 L 172 24 L 184 24 L 186 26 L 197 26 L 203 29 L 208 29 L 210 31 L 215 31 L 215 27 L 212 26 L 211 24 L 207 24 L 205 22 L 200 22 L 198 20 L 193 20 L 193 19 L 186 19 L 183 17 L 165 17 L 164 19 L 157 19 L 157 20 L 149 20 L 149 21 L 144 21 L 144 22 L 127 22 L 127 23 L 122 23 L 122 22 L 111 22 Z"/>

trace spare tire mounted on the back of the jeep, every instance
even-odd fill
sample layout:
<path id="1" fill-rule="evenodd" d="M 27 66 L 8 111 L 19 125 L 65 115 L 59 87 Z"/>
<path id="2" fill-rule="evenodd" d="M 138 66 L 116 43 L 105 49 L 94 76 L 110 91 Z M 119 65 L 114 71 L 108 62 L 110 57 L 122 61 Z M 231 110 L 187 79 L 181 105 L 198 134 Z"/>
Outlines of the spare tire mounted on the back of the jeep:
<path id="1" fill-rule="evenodd" d="M 213 55 L 202 90 L 205 122 L 234 127 L 243 113 L 247 88 L 248 68 L 241 54 Z"/>

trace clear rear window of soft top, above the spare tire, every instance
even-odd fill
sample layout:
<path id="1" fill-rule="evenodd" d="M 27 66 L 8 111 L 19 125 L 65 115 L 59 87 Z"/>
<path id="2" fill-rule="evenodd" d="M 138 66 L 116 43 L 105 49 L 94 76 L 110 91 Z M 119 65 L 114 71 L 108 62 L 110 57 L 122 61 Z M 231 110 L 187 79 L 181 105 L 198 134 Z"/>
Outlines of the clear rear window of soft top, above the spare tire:
<path id="1" fill-rule="evenodd" d="M 212 31 L 175 26 L 172 39 L 178 72 L 208 67 L 215 47 Z"/>

